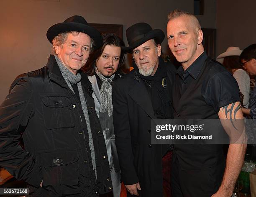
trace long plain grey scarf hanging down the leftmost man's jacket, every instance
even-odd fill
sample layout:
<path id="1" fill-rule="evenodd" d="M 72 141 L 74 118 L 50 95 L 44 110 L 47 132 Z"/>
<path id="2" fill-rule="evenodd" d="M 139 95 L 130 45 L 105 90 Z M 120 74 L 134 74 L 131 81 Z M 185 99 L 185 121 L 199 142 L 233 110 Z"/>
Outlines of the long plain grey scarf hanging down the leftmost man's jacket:
<path id="1" fill-rule="evenodd" d="M 77 84 L 79 97 L 80 97 L 80 101 L 81 101 L 81 105 L 82 105 L 82 110 L 84 113 L 84 118 L 86 121 L 88 135 L 89 135 L 89 146 L 90 146 L 91 156 L 92 156 L 92 167 L 95 170 L 95 175 L 97 178 L 95 151 L 94 151 L 94 146 L 93 146 L 93 141 L 92 141 L 92 131 L 91 131 L 90 119 L 89 119 L 88 110 L 87 110 L 87 104 L 86 104 L 84 92 L 83 92 L 82 85 L 81 85 L 81 78 L 82 78 L 81 74 L 77 73 L 77 75 L 74 75 L 72 72 L 69 71 L 69 69 L 64 67 L 61 60 L 58 58 L 58 56 L 56 56 L 56 55 L 54 55 L 54 56 L 55 56 L 57 64 L 59 65 L 61 74 L 62 74 L 63 78 L 65 79 L 65 81 L 67 82 L 68 87 L 72 90 L 72 92 L 74 92 L 74 90 L 73 90 L 71 84 Z M 85 138 L 85 136 L 84 136 L 84 138 Z"/>

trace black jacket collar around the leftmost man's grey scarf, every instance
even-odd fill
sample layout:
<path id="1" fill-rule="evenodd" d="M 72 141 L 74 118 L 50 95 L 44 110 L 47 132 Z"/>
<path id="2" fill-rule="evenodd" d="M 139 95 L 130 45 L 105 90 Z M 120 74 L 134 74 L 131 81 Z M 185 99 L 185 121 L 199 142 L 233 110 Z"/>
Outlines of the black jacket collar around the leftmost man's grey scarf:
<path id="1" fill-rule="evenodd" d="M 56 82 L 57 84 L 61 85 L 62 87 L 65 87 L 65 88 L 69 89 L 66 81 L 64 80 L 64 78 L 61 74 L 61 71 L 59 69 L 59 66 L 56 62 L 56 59 L 55 59 L 54 55 L 49 56 L 46 67 L 48 68 L 49 77 L 52 81 Z M 82 72 L 82 70 L 79 70 L 79 72 L 82 76 L 81 84 L 85 88 L 85 90 L 87 90 L 87 88 L 91 86 L 91 83 L 90 83 L 87 75 L 84 74 L 84 72 Z"/>

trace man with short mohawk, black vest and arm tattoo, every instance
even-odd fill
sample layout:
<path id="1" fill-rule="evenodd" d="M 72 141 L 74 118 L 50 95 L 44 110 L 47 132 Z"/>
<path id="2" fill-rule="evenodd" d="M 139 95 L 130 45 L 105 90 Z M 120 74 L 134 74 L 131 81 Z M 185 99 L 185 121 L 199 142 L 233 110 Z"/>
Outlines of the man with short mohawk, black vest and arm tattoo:
<path id="1" fill-rule="evenodd" d="M 232 117 L 243 121 L 236 79 L 207 56 L 197 18 L 174 10 L 169 13 L 168 20 L 168 45 L 182 64 L 172 89 L 174 118 L 231 122 Z M 218 131 L 225 133 L 224 128 L 227 131 L 224 125 Z M 235 130 L 234 127 L 228 129 L 231 133 Z M 173 196 L 230 197 L 246 150 L 245 137 L 242 136 L 241 141 L 241 144 L 230 144 L 226 158 L 222 144 L 174 144 Z"/>

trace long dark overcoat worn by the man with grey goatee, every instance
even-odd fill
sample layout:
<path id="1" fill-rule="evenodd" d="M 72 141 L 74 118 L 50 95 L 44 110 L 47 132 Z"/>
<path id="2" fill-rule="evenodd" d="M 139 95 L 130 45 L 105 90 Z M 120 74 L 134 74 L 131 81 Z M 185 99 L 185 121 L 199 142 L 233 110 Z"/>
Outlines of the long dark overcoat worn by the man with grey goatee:
<path id="1" fill-rule="evenodd" d="M 165 64 L 165 63 L 163 63 Z M 165 65 L 172 86 L 174 66 Z M 140 183 L 142 197 L 162 197 L 162 157 L 169 145 L 151 144 L 151 120 L 156 118 L 142 80 L 131 71 L 113 82 L 115 141 L 124 184 Z"/>

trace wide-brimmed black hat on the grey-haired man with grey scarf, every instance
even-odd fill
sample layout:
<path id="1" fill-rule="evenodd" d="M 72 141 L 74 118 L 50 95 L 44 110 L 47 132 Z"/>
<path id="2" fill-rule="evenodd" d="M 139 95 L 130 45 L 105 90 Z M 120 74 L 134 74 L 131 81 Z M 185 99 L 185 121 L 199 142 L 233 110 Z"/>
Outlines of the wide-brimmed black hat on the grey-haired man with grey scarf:
<path id="1" fill-rule="evenodd" d="M 100 48 L 103 44 L 100 32 L 89 26 L 87 21 L 82 16 L 78 15 L 67 18 L 63 23 L 57 23 L 51 26 L 48 29 L 46 36 L 52 43 L 52 40 L 55 36 L 58 36 L 60 33 L 69 31 L 77 31 L 89 35 L 95 41 L 95 49 Z"/>

